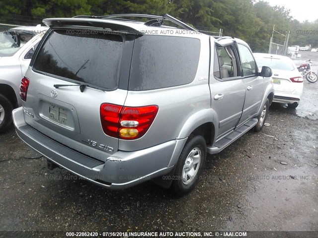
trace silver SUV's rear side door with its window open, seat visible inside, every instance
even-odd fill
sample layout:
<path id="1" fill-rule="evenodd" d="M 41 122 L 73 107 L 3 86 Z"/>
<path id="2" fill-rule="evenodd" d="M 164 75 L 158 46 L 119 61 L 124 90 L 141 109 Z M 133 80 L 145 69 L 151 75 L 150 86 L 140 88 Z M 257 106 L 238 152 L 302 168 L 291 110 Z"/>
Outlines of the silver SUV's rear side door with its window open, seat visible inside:
<path id="1" fill-rule="evenodd" d="M 234 42 L 218 42 L 211 47 L 211 107 L 218 115 L 217 140 L 231 132 L 239 122 L 245 98 L 245 85 L 239 75 L 239 59 Z M 213 70 L 213 73 L 212 73 Z"/>

